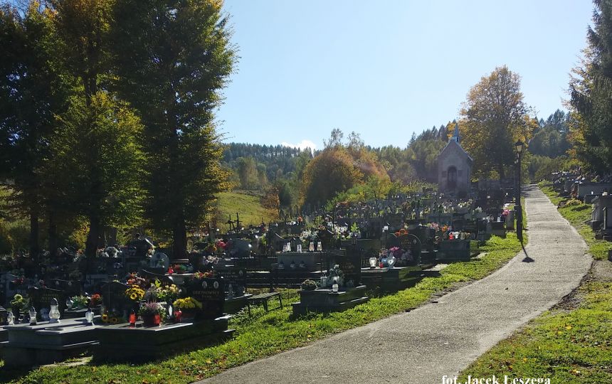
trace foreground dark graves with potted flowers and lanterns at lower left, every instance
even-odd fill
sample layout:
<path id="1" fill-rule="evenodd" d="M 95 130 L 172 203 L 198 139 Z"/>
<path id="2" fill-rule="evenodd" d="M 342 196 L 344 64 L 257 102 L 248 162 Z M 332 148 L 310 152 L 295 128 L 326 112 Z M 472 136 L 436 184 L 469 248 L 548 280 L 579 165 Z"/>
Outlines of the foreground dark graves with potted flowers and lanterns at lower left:
<path id="1" fill-rule="evenodd" d="M 211 255 L 170 265 L 158 257 L 161 266 L 98 284 L 95 294 L 79 281 L 53 279 L 16 294 L 9 311 L 0 309 L 5 365 L 53 363 L 85 352 L 96 361 L 149 361 L 230 338 L 231 313 L 252 296 L 246 272 Z"/>

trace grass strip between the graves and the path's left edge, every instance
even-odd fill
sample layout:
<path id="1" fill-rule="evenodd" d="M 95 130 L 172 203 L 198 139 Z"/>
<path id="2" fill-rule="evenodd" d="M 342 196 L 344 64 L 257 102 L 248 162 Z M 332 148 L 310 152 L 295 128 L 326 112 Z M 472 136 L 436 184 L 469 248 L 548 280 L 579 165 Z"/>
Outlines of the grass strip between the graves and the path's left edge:
<path id="1" fill-rule="evenodd" d="M 230 322 L 236 329 L 231 341 L 191 351 L 163 361 L 142 365 L 95 364 L 36 368 L 16 372 L 0 368 L 2 383 L 190 383 L 216 375 L 228 368 L 274 355 L 330 334 L 362 326 L 371 321 L 397 314 L 431 299 L 433 294 L 457 287 L 462 282 L 481 279 L 502 267 L 520 250 L 514 233 L 507 238 L 493 237 L 484 247 L 481 259 L 457 262 L 443 269 L 439 277 L 427 277 L 415 287 L 396 294 L 373 297 L 369 302 L 344 312 L 310 314 L 293 319 L 289 303 L 297 302 L 297 290 L 283 291 L 283 310 L 265 313 L 253 309 L 253 317 L 238 314 Z"/>

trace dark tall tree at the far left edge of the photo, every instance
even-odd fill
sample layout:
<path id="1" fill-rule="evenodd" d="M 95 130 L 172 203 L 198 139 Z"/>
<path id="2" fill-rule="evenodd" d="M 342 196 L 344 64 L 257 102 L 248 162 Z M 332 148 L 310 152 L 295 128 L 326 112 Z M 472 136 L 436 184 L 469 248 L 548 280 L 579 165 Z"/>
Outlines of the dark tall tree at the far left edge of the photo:
<path id="1" fill-rule="evenodd" d="M 14 181 L 14 208 L 29 215 L 32 257 L 38 254 L 39 218 L 51 217 L 58 208 L 44 188 L 41 169 L 49 165 L 54 116 L 65 108 L 68 94 L 54 54 L 58 41 L 52 16 L 36 1 L 23 13 L 0 8 L 0 178 Z"/>

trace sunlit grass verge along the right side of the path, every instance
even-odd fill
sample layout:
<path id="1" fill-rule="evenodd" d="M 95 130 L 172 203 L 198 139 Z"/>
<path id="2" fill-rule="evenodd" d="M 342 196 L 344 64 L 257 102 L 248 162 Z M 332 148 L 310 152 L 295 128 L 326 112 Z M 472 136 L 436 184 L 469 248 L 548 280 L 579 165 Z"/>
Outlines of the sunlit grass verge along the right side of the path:
<path id="1" fill-rule="evenodd" d="M 549 186 L 540 187 L 553 203 L 562 200 Z M 590 218 L 591 206 L 568 206 L 559 212 L 582 235 L 593 258 L 605 260 L 611 243 L 595 240 L 584 223 Z M 463 371 L 460 380 L 466 380 L 467 375 L 508 375 L 550 378 L 551 383 L 563 384 L 612 383 L 612 282 L 592 274 L 576 297 L 581 297 L 577 308 L 545 312 L 480 356 Z"/>

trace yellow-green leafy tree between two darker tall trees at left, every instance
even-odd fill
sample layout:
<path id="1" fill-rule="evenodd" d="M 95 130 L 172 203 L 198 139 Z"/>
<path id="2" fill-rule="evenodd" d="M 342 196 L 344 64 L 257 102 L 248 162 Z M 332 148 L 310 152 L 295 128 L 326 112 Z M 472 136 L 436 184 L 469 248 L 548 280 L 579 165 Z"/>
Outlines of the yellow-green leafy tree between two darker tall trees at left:
<path id="1" fill-rule="evenodd" d="M 58 49 L 77 82 L 68 112 L 53 137 L 59 187 L 76 214 L 89 221 L 86 255 L 104 245 L 105 225 L 136 223 L 141 126 L 125 103 L 107 91 L 112 75 L 110 24 L 114 0 L 51 0 Z"/>

